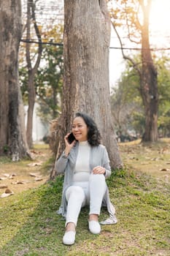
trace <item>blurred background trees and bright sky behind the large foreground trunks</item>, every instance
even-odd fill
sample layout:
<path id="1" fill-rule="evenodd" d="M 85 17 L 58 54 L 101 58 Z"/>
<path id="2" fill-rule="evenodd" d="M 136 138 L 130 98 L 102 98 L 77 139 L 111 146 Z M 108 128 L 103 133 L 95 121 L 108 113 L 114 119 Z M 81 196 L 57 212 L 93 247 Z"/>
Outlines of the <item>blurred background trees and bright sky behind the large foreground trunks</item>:
<path id="1" fill-rule="evenodd" d="M 155 42 L 153 34 L 154 24 L 159 29 L 155 11 L 160 7 L 169 8 L 166 1 L 163 3 L 160 6 L 158 1 L 107 2 L 112 35 L 120 44 L 119 47 L 111 45 L 110 52 L 118 48 L 126 60 L 120 78 L 110 85 L 112 120 L 118 141 L 136 138 L 157 141 L 169 136 L 169 47 L 162 44 L 169 38 L 164 34 L 167 22 L 160 24 L 165 16 L 161 12 L 159 28 L 164 32 L 160 44 Z M 46 124 L 61 114 L 63 1 L 57 4 L 50 1 L 48 5 L 45 1 L 22 1 L 21 12 L 19 81 L 23 102 L 28 105 L 26 140 L 31 148 L 35 102 Z M 113 59 L 110 58 L 110 62 Z M 110 65 L 109 73 L 117 73 L 117 70 L 112 70 Z M 1 152 L 9 153 L 8 143 Z"/>

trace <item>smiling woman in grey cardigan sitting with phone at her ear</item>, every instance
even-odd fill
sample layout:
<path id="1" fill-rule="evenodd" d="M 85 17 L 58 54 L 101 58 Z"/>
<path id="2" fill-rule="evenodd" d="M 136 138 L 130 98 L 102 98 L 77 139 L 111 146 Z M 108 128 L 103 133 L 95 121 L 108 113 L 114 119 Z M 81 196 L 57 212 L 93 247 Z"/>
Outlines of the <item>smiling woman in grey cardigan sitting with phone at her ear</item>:
<path id="1" fill-rule="evenodd" d="M 77 219 L 83 206 L 90 208 L 88 227 L 93 234 L 101 231 L 98 223 L 101 206 L 107 206 L 109 211 L 109 219 L 101 224 L 117 222 L 105 181 L 111 175 L 109 157 L 106 148 L 100 144 L 101 136 L 95 122 L 85 113 L 76 113 L 72 135 L 73 141 L 69 140 L 70 133 L 65 136 L 66 148 L 55 163 L 58 173 L 65 173 L 58 214 L 66 217 L 63 244 L 67 245 L 74 244 Z"/>

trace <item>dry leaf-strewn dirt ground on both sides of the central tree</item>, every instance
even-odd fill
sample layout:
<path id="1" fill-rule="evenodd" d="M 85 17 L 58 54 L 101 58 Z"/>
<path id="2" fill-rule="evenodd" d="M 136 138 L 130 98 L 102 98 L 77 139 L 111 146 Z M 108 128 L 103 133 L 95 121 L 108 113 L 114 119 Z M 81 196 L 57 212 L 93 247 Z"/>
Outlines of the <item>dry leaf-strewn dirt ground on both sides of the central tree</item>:
<path id="1" fill-rule="evenodd" d="M 120 143 L 120 155 L 129 169 L 148 173 L 170 182 L 170 139 L 156 144 L 142 145 L 140 140 Z M 32 161 L 9 162 L 0 158 L 0 197 L 13 195 L 26 189 L 45 184 L 50 176 L 45 162 L 52 157 L 47 144 L 35 145 L 31 150 Z"/>

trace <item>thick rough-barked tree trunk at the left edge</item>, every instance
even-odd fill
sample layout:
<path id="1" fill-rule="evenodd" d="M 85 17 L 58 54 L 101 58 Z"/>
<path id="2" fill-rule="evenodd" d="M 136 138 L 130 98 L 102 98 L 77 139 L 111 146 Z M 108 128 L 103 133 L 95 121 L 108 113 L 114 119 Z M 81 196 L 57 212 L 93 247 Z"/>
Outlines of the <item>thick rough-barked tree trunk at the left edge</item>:
<path id="1" fill-rule="evenodd" d="M 0 2 L 0 155 L 17 161 L 27 155 L 22 100 L 18 82 L 18 48 L 21 36 L 20 0 Z"/>

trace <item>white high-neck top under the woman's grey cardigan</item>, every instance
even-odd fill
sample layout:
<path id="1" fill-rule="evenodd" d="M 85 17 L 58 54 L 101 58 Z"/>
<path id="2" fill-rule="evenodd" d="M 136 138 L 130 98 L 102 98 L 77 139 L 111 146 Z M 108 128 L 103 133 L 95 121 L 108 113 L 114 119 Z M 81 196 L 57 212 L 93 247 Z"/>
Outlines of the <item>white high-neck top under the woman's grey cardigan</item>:
<path id="1" fill-rule="evenodd" d="M 89 181 L 90 176 L 90 145 L 88 141 L 80 141 L 73 181 Z"/>

